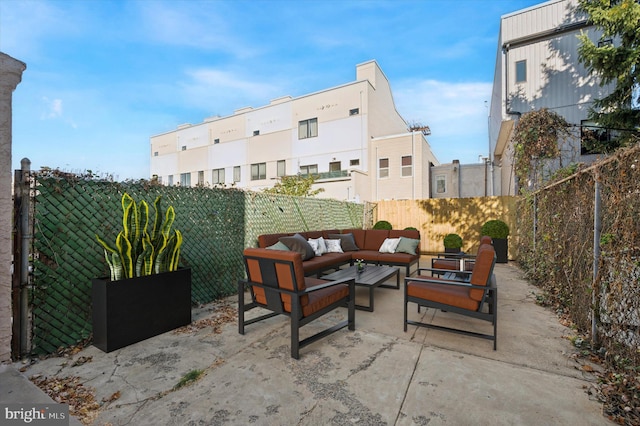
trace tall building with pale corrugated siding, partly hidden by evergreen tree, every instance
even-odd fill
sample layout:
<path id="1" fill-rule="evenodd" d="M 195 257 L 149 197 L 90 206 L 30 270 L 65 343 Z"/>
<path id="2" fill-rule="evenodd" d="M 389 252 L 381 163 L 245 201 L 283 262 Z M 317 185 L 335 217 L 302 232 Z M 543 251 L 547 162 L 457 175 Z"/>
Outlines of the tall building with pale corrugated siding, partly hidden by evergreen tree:
<path id="1" fill-rule="evenodd" d="M 529 184 L 515 182 L 511 143 L 515 124 L 526 112 L 548 108 L 573 125 L 573 137 L 560 144 L 561 160 L 544 164 L 547 174 L 597 158 L 582 149 L 581 132 L 597 128 L 587 120 L 589 107 L 609 89 L 600 87 L 578 60 L 577 36 L 585 32 L 596 41 L 599 33 L 577 13 L 577 5 L 577 0 L 551 0 L 501 17 L 489 117 L 496 195 L 514 195 Z"/>

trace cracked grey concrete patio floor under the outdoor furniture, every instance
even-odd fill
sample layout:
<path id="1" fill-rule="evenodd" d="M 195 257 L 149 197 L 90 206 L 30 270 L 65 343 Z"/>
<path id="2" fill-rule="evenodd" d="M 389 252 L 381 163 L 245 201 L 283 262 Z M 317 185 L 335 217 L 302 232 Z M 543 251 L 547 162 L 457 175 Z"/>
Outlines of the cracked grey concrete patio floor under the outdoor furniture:
<path id="1" fill-rule="evenodd" d="M 421 265 L 427 264 L 424 257 Z M 110 400 L 95 425 L 610 424 L 587 392 L 594 380 L 589 369 L 572 356 L 572 331 L 535 304 L 537 289 L 515 265 L 498 264 L 495 273 L 497 351 L 474 337 L 415 326 L 405 333 L 403 290 L 379 288 L 375 311 L 356 311 L 355 331 L 343 329 L 303 348 L 300 360 L 290 357 L 288 318 L 250 325 L 241 336 L 235 317 L 219 332 L 213 325 L 192 327 L 108 354 L 91 346 L 4 366 L 0 402 L 43 397 L 26 377 L 73 376 L 95 389 L 96 400 Z M 366 302 L 366 291 L 358 294 Z M 235 309 L 236 298 L 195 309 L 194 325 L 211 324 L 225 307 Z M 441 311 L 418 314 L 415 305 L 409 312 L 423 321 L 491 328 Z M 343 317 L 346 310 L 339 309 L 303 327 L 301 337 Z M 204 374 L 173 390 L 193 370 Z"/>

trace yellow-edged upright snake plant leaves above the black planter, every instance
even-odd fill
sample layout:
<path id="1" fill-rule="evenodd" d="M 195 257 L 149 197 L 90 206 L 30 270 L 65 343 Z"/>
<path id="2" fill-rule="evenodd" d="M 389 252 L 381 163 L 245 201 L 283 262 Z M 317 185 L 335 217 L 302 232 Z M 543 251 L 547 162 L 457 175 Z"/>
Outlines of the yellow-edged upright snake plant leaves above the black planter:
<path id="1" fill-rule="evenodd" d="M 175 271 L 180 260 L 182 233 L 172 230 L 176 218 L 173 206 L 162 214 L 161 196 L 153 203 L 154 216 L 149 233 L 149 205 L 122 195 L 122 230 L 110 245 L 96 235 L 104 249 L 104 257 L 111 271 L 111 281 Z"/>

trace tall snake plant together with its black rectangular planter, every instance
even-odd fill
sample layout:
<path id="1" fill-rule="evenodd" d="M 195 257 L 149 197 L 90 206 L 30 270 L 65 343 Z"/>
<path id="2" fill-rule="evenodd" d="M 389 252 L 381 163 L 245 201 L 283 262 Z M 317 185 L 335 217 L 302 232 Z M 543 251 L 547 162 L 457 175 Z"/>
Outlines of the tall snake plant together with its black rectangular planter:
<path id="1" fill-rule="evenodd" d="M 93 345 L 105 352 L 191 323 L 191 270 L 178 267 L 182 234 L 171 229 L 173 206 L 163 215 L 160 201 L 151 217 L 146 201 L 125 193 L 114 244 L 96 235 L 110 276 L 92 280 Z"/>

